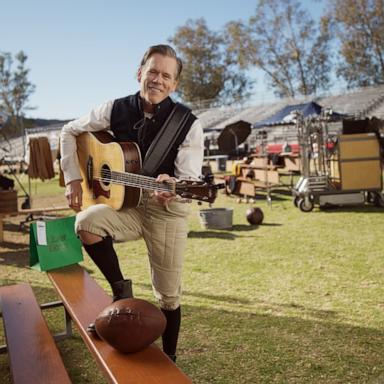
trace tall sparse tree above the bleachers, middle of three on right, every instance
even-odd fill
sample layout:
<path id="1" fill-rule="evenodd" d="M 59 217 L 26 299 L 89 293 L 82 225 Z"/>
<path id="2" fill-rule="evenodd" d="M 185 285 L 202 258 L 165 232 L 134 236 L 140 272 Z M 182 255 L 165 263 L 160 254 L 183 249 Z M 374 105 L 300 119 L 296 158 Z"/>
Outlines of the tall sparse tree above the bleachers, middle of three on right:
<path id="1" fill-rule="evenodd" d="M 330 33 L 295 0 L 260 0 L 248 24 L 227 25 L 230 49 L 243 66 L 256 66 L 280 97 L 311 95 L 330 83 Z"/>

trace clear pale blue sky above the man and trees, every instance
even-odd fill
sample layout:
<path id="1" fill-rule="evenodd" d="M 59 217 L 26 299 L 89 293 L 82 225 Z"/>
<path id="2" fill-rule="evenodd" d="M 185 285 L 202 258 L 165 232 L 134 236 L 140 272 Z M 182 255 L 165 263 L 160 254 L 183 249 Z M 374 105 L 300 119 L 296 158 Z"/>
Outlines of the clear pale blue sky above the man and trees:
<path id="1" fill-rule="evenodd" d="M 313 11 L 321 2 L 302 0 Z M 0 51 L 23 50 L 36 91 L 27 116 L 70 119 L 138 90 L 144 51 L 167 42 L 188 19 L 212 30 L 247 21 L 256 0 L 7 0 L 0 5 Z M 257 75 L 255 75 L 257 76 Z M 255 92 L 265 92 L 262 77 Z M 255 100 L 257 94 L 255 94 Z"/>

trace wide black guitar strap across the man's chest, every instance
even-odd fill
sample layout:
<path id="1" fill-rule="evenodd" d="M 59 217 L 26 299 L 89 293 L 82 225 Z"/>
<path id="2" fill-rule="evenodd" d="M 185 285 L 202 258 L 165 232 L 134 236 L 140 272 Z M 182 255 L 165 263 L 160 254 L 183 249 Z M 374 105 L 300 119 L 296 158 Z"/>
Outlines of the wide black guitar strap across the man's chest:
<path id="1" fill-rule="evenodd" d="M 180 132 L 188 121 L 191 110 L 176 103 L 167 120 L 160 128 L 145 155 L 141 174 L 152 176 L 167 157 Z"/>

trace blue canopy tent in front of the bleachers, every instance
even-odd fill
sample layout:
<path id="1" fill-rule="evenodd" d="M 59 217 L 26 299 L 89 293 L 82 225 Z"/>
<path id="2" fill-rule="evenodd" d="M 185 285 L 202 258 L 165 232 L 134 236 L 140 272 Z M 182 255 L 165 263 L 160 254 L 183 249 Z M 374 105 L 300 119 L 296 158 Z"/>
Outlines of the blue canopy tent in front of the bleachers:
<path id="1" fill-rule="evenodd" d="M 273 125 L 285 125 L 294 123 L 294 114 L 292 112 L 298 111 L 304 117 L 308 116 L 318 116 L 321 114 L 323 107 L 313 101 L 304 104 L 295 104 L 295 105 L 287 105 L 280 111 L 276 112 L 274 115 L 268 117 L 267 119 L 258 121 L 252 124 L 252 128 L 261 128 L 268 127 Z M 342 114 L 332 112 L 331 119 L 339 120 L 343 117 Z"/>

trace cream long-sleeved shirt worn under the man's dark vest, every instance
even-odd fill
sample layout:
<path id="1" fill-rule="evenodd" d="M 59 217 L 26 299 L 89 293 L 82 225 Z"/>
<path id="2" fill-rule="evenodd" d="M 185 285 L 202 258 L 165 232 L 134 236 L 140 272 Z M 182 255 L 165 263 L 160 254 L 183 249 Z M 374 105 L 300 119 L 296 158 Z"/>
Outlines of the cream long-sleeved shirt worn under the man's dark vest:
<path id="1" fill-rule="evenodd" d="M 73 180 L 82 180 L 76 154 L 76 136 L 83 132 L 110 129 L 112 107 L 113 100 L 107 101 L 92 109 L 87 115 L 63 126 L 60 135 L 60 153 L 65 184 Z M 178 148 L 175 160 L 176 178 L 197 180 L 201 175 L 203 156 L 203 129 L 196 119 Z"/>

